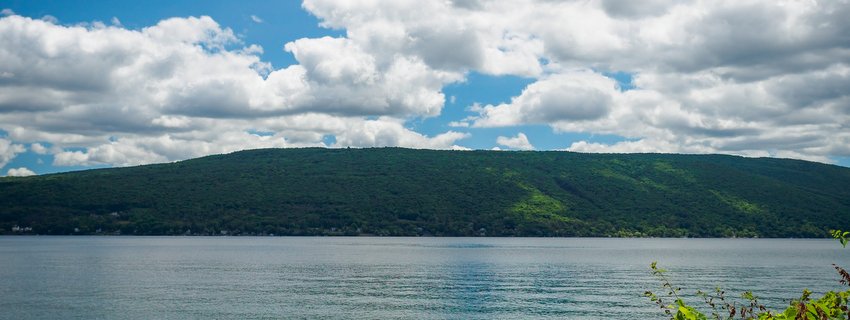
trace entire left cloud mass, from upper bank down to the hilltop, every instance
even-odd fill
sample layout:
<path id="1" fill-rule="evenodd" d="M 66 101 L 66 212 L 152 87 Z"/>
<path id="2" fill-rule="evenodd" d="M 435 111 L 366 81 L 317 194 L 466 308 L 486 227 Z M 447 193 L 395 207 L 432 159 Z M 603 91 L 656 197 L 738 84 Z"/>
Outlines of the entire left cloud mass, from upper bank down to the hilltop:
<path id="1" fill-rule="evenodd" d="M 325 146 L 328 135 L 335 146 L 448 149 L 467 136 L 404 127 L 440 114 L 442 86 L 461 73 L 415 57 L 378 60 L 346 38 L 288 43 L 299 64 L 277 70 L 260 60 L 262 48 L 209 17 L 129 30 L 10 16 L 0 20 L 0 40 L 9 44 L 0 48 L 0 129 L 54 154 L 58 166 Z M 257 129 L 271 135 L 249 133 Z M 8 159 L 22 151 L 6 143 Z"/>

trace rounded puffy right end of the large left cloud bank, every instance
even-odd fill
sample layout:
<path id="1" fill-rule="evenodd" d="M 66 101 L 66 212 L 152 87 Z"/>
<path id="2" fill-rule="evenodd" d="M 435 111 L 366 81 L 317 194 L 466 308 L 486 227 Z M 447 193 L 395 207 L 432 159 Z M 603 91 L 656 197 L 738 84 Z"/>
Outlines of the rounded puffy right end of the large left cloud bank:
<path id="1" fill-rule="evenodd" d="M 436 116 L 445 103 L 442 86 L 462 79 L 410 57 L 378 60 L 346 38 L 299 39 L 285 48 L 300 63 L 301 107 L 311 111 Z"/>

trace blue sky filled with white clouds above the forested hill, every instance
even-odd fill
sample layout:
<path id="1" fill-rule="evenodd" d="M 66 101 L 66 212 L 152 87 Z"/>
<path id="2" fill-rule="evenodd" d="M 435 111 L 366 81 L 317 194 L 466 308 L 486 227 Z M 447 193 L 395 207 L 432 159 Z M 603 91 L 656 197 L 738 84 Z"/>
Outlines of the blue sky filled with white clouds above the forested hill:
<path id="1" fill-rule="evenodd" d="M 254 148 L 850 166 L 847 0 L 0 0 L 0 175 Z"/>

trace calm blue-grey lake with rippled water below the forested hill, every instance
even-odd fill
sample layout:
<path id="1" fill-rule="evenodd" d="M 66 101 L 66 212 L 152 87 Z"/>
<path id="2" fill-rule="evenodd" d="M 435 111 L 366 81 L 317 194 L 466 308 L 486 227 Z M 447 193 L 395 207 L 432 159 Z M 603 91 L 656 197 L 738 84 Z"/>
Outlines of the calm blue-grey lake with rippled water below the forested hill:
<path id="1" fill-rule="evenodd" d="M 683 292 L 842 289 L 826 239 L 0 237 L 2 319 L 655 319 Z M 692 297 L 693 298 L 693 297 Z M 698 305 L 702 307 L 702 304 Z"/>

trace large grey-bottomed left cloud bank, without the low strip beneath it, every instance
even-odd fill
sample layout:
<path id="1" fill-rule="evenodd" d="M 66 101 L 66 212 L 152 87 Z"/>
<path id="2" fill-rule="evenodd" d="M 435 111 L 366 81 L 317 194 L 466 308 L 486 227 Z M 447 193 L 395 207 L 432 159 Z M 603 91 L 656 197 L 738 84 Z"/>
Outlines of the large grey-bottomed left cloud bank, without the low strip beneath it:
<path id="1" fill-rule="evenodd" d="M 0 110 L 44 112 L 45 125 L 92 118 L 82 123 L 140 130 L 162 115 L 435 116 L 442 86 L 462 79 L 412 57 L 378 61 L 354 41 L 329 37 L 288 43 L 299 64 L 269 70 L 261 48 L 229 49 L 239 40 L 209 17 L 134 31 L 11 16 L 0 21 L 0 39 L 10 44 L 0 49 L 7 62 L 0 73 L 10 75 L 0 86 Z"/>

